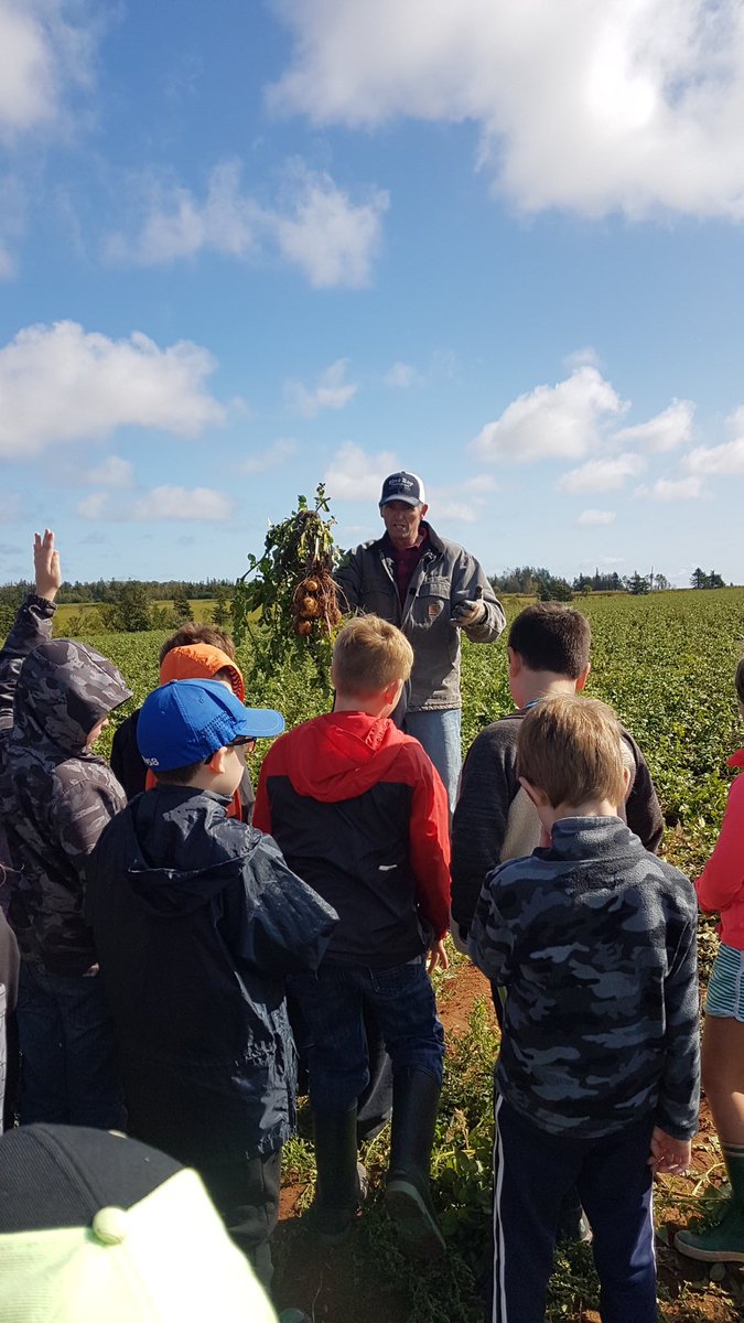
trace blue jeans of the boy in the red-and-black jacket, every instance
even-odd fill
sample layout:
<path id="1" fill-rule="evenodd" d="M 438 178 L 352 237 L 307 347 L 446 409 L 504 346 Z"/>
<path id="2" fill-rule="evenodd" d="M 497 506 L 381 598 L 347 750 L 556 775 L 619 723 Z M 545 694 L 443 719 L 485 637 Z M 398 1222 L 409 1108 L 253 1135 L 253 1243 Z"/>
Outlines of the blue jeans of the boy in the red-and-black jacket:
<path id="1" fill-rule="evenodd" d="M 318 976 L 287 979 L 310 1031 L 310 1102 L 315 1111 L 348 1111 L 369 1084 L 364 1003 L 371 1005 L 398 1070 L 425 1070 L 442 1082 L 445 1033 L 424 957 L 392 970 L 320 966 Z"/>

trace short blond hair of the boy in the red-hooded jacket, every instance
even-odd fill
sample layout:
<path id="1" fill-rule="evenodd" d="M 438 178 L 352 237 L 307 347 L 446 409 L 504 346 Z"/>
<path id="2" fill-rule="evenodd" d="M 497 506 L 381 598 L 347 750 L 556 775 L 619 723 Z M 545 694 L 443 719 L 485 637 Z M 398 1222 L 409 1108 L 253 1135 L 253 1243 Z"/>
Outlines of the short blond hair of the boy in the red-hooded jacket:
<path id="1" fill-rule="evenodd" d="M 336 636 L 332 676 L 339 693 L 360 699 L 408 680 L 413 648 L 404 634 L 379 615 L 357 615 Z"/>

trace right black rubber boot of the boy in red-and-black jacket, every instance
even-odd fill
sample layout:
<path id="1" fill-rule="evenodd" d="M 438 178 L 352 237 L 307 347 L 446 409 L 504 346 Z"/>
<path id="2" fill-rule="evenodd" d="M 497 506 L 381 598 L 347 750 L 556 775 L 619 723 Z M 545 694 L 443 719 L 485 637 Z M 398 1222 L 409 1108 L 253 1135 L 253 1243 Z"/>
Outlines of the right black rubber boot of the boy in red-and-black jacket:
<path id="1" fill-rule="evenodd" d="M 420 1259 L 440 1258 L 446 1249 L 429 1189 L 440 1093 L 440 1085 L 425 1070 L 395 1076 L 385 1204 L 400 1232 L 401 1249 Z"/>

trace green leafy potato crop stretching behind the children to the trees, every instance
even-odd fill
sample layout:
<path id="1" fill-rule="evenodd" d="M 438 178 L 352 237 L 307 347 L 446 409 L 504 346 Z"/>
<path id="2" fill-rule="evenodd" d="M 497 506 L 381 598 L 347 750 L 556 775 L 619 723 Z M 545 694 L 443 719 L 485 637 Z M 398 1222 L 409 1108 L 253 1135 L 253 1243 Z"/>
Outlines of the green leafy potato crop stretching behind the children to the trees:
<path id="1" fill-rule="evenodd" d="M 504 605 L 511 619 L 526 599 L 507 599 Z M 669 859 L 686 871 L 699 869 L 715 841 L 725 803 L 731 779 L 727 757 L 744 741 L 733 691 L 733 671 L 744 652 L 744 589 L 649 597 L 589 594 L 573 605 L 592 623 L 586 693 L 616 709 L 646 755 L 669 827 Z M 164 636 L 90 636 L 89 642 L 120 667 L 134 689 L 131 705 L 114 716 L 114 724 L 158 684 L 158 650 Z M 512 704 L 506 646 L 463 643 L 465 753 L 478 730 L 510 712 Z M 310 660 L 304 667 L 293 662 L 273 675 L 254 672 L 246 644 L 238 662 L 246 676 L 248 700 L 279 708 L 289 726 L 327 708 L 330 691 Z M 258 747 L 254 771 L 261 755 Z"/>

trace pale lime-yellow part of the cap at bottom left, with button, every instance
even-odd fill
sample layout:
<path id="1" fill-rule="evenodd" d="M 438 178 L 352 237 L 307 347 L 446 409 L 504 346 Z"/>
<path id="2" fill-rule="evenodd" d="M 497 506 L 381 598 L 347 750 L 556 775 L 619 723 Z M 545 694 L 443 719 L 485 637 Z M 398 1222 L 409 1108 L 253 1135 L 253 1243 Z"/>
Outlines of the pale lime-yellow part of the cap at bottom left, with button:
<path id="1" fill-rule="evenodd" d="M 93 1222 L 0 1236 L 0 1323 L 275 1323 L 196 1172 Z"/>

